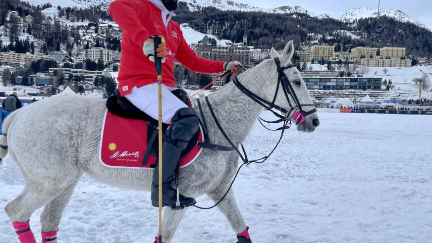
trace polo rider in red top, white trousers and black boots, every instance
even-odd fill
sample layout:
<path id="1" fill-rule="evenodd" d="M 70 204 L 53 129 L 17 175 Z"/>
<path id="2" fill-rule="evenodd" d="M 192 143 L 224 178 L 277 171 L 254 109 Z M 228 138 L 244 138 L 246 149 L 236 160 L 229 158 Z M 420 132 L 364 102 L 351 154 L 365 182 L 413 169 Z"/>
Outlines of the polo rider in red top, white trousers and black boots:
<path id="1" fill-rule="evenodd" d="M 119 91 L 134 106 L 158 120 L 157 75 L 154 56 L 162 65 L 162 122 L 170 124 L 163 139 L 162 204 L 176 207 L 177 192 L 171 187 L 180 155 L 199 130 L 195 110 L 188 108 L 174 94 L 174 60 L 189 70 L 201 73 L 220 73 L 231 70 L 235 75 L 240 67 L 236 61 L 211 61 L 198 57 L 183 37 L 175 16 L 178 0 L 116 0 L 110 5 L 110 16 L 123 29 Z M 163 37 L 154 53 L 150 36 Z M 165 41 L 164 41 L 165 40 Z M 157 171 L 158 166 L 154 168 Z M 158 173 L 153 173 L 151 203 L 158 206 Z M 180 195 L 180 206 L 188 207 L 195 199 Z"/>

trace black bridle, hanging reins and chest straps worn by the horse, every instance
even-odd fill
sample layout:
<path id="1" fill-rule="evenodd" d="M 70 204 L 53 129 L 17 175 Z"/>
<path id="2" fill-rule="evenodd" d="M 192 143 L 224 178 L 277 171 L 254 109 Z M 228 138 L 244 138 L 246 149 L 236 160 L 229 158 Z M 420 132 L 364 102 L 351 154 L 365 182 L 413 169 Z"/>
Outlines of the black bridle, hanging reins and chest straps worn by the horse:
<path id="1" fill-rule="evenodd" d="M 268 159 L 268 158 L 273 154 L 273 152 L 275 152 L 276 148 L 278 147 L 279 143 L 280 143 L 281 140 L 282 140 L 282 137 L 284 136 L 285 129 L 290 128 L 291 124 L 293 123 L 293 121 L 290 120 L 290 119 L 293 117 L 293 115 L 295 114 L 295 111 L 296 111 L 296 110 L 298 110 L 298 111 L 300 112 L 300 114 L 303 116 L 303 118 L 316 112 L 316 108 L 314 108 L 314 109 L 312 109 L 312 110 L 310 110 L 310 111 L 308 111 L 308 112 L 305 112 L 305 111 L 302 109 L 302 106 L 313 106 L 313 107 L 315 107 L 315 105 L 314 105 L 314 104 L 300 104 L 300 102 L 299 102 L 299 100 L 298 100 L 298 98 L 297 98 L 297 95 L 296 95 L 296 93 L 294 92 L 293 86 L 291 85 L 290 80 L 288 79 L 287 75 L 286 75 L 285 72 L 284 72 L 284 70 L 289 69 L 289 68 L 294 68 L 295 66 L 292 65 L 292 64 L 290 64 L 290 65 L 288 65 L 287 67 L 281 67 L 281 61 L 279 60 L 279 58 L 278 58 L 278 57 L 277 57 L 277 58 L 274 58 L 274 60 L 275 60 L 275 62 L 276 62 L 276 66 L 277 66 L 277 69 L 278 69 L 279 76 L 278 76 L 278 84 L 277 84 L 277 87 L 276 87 L 275 96 L 274 96 L 274 98 L 273 98 L 272 103 L 270 103 L 270 102 L 268 102 L 268 101 L 266 101 L 266 100 L 260 98 L 257 94 L 253 93 L 252 91 L 250 91 L 249 89 L 247 89 L 245 86 L 243 86 L 243 85 L 239 82 L 239 80 L 237 79 L 237 76 L 235 77 L 235 79 L 234 79 L 234 81 L 233 81 L 234 84 L 236 85 L 236 87 L 237 87 L 238 89 L 240 89 L 240 91 L 242 91 L 244 94 L 246 94 L 246 96 L 248 96 L 250 99 L 252 99 L 254 102 L 258 103 L 258 104 L 261 105 L 262 107 L 264 107 L 264 108 L 266 108 L 267 110 L 271 111 L 275 116 L 277 116 L 277 117 L 279 118 L 279 120 L 277 120 L 277 121 L 265 121 L 265 120 L 259 118 L 259 119 L 260 119 L 260 120 L 259 120 L 260 123 L 261 123 L 261 121 L 264 121 L 264 122 L 267 122 L 267 123 L 280 123 L 280 122 L 283 122 L 283 123 L 284 123 L 284 125 L 283 125 L 282 127 L 280 127 L 280 128 L 278 128 L 278 129 L 275 129 L 275 130 L 274 130 L 274 131 L 276 131 L 276 130 L 282 130 L 282 131 L 281 131 L 281 136 L 279 137 L 279 140 L 278 140 L 278 142 L 276 143 L 275 148 L 273 148 L 273 150 L 272 150 L 272 151 L 271 151 L 267 156 L 264 156 L 264 157 L 262 157 L 262 158 L 260 158 L 260 159 L 257 159 L 257 160 L 248 160 L 248 158 L 247 158 L 247 154 L 246 154 L 246 151 L 245 151 L 245 149 L 244 149 L 244 147 L 243 147 L 243 144 L 240 143 L 241 148 L 242 148 L 242 150 L 243 150 L 243 154 L 242 154 L 242 153 L 239 151 L 239 149 L 237 148 L 237 146 L 236 146 L 236 145 L 231 141 L 231 139 L 230 139 L 230 138 L 228 137 L 228 135 L 225 133 L 224 129 L 222 128 L 221 124 L 219 123 L 217 117 L 216 117 L 215 114 L 214 114 L 213 108 L 211 107 L 211 104 L 210 104 L 210 102 L 208 101 L 207 96 L 205 96 L 205 101 L 206 101 L 206 103 L 207 103 L 208 110 L 210 111 L 210 114 L 211 114 L 211 116 L 212 116 L 214 122 L 215 122 L 216 125 L 218 126 L 219 130 L 221 131 L 222 135 L 224 135 L 225 139 L 227 139 L 228 143 L 230 143 L 231 148 L 230 148 L 230 147 L 223 146 L 223 145 L 212 144 L 212 143 L 210 142 L 209 137 L 208 137 L 208 134 L 207 134 L 207 124 L 206 124 L 206 121 L 205 121 L 205 118 L 204 118 L 204 113 L 203 113 L 203 111 L 202 111 L 201 103 L 200 103 L 199 99 L 197 99 L 198 107 L 199 107 L 199 111 L 200 111 L 200 113 L 201 113 L 201 119 L 202 119 L 202 121 L 203 121 L 202 126 L 203 126 L 203 129 L 204 129 L 204 138 L 205 138 L 205 142 L 198 142 L 198 143 L 197 143 L 197 146 L 198 146 L 198 147 L 202 147 L 202 148 L 212 149 L 213 151 L 217 151 L 217 150 L 220 150 L 220 151 L 234 151 L 234 150 L 235 150 L 235 151 L 237 152 L 237 154 L 239 155 L 239 157 L 241 158 L 241 160 L 243 161 L 243 164 L 242 164 L 242 165 L 237 169 L 237 172 L 236 172 L 236 174 L 235 174 L 233 180 L 231 181 L 231 184 L 230 184 L 230 186 L 228 187 L 228 190 L 225 192 L 224 196 L 221 198 L 221 200 L 219 200 L 218 203 L 216 203 L 215 205 L 213 205 L 213 206 L 211 206 L 211 207 L 208 207 L 208 208 L 203 208 L 203 207 L 199 207 L 199 206 L 196 206 L 196 205 L 194 205 L 194 207 L 199 208 L 199 209 L 211 209 L 211 208 L 216 207 L 219 203 L 222 202 L 222 200 L 225 199 L 225 197 L 227 196 L 227 194 L 228 194 L 228 192 L 230 191 L 231 187 L 233 186 L 234 181 L 236 180 L 237 175 L 238 175 L 239 172 L 240 172 L 240 169 L 241 169 L 244 165 L 247 166 L 247 165 L 249 165 L 249 164 L 251 164 L 251 163 L 257 163 L 257 164 L 262 164 L 262 163 L 264 163 L 264 161 L 266 161 L 266 160 L 267 160 L 267 159 Z M 296 83 L 296 84 L 297 84 L 297 85 L 300 85 L 300 84 L 301 84 L 300 81 L 298 81 L 298 82 L 299 82 L 299 83 L 298 83 L 298 84 Z M 282 107 L 279 107 L 279 106 L 275 105 L 275 102 L 276 102 L 276 99 L 277 99 L 277 96 L 278 96 L 279 86 L 282 86 L 282 89 L 283 89 L 283 91 L 284 91 L 285 97 L 287 98 L 288 104 L 290 105 L 290 111 L 287 111 L 286 109 L 284 109 L 284 108 L 282 108 Z M 288 96 L 289 94 L 291 95 L 291 97 L 293 98 L 293 100 L 294 100 L 294 102 L 295 102 L 295 104 L 296 104 L 295 107 L 292 106 L 292 104 L 291 104 L 291 102 L 290 102 L 290 99 L 289 99 L 289 96 Z M 275 109 L 281 111 L 282 113 L 285 113 L 286 115 L 285 115 L 285 116 L 282 116 L 281 114 L 279 114 L 279 113 L 273 111 L 273 110 L 272 110 L 273 108 L 275 108 Z M 292 115 L 291 115 L 291 114 L 292 114 Z M 291 115 L 291 118 L 289 118 L 290 115 Z M 297 124 L 302 123 L 302 122 L 299 122 L 301 117 L 300 117 L 300 116 L 298 116 L 298 117 L 299 117 L 298 120 L 297 120 L 297 119 L 294 119 L 295 122 L 296 122 Z M 261 125 L 262 125 L 263 127 L 265 127 L 262 123 L 261 123 Z M 267 127 L 265 127 L 265 128 L 268 129 Z M 271 130 L 271 129 L 269 129 L 269 130 Z"/>

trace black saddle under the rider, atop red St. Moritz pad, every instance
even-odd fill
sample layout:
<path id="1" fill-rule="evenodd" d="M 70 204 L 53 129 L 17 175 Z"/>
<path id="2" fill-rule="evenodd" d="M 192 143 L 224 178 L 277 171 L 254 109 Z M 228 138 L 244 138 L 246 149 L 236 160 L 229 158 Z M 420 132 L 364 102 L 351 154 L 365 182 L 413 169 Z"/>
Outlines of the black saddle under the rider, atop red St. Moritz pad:
<path id="1" fill-rule="evenodd" d="M 192 103 L 188 98 L 188 94 L 183 89 L 175 89 L 172 91 L 174 95 L 179 98 L 179 100 L 183 101 L 188 107 L 192 108 Z M 158 155 L 158 143 L 155 142 L 158 131 L 158 121 L 151 118 L 141 110 L 139 110 L 137 107 L 135 107 L 132 103 L 130 103 L 126 98 L 122 97 L 120 95 L 120 92 L 118 89 L 114 91 L 114 94 L 110 96 L 106 100 L 106 108 L 109 112 L 112 114 L 125 118 L 125 119 L 137 119 L 137 120 L 143 120 L 146 122 L 146 134 L 147 137 L 143 138 L 147 141 L 147 148 L 145 150 L 144 159 L 142 160 L 142 165 L 144 166 L 148 160 L 149 157 L 157 158 Z M 163 123 L 163 132 L 168 128 L 169 124 Z M 137 128 L 138 129 L 138 128 Z M 140 128 L 142 129 L 142 128 Z M 197 132 L 197 134 L 194 135 L 193 139 L 189 142 L 187 148 L 182 152 L 182 157 L 186 156 L 191 152 L 198 141 L 198 138 L 200 136 L 200 132 Z M 151 156 L 150 156 L 151 155 Z M 154 166 L 151 166 L 154 167 Z"/>

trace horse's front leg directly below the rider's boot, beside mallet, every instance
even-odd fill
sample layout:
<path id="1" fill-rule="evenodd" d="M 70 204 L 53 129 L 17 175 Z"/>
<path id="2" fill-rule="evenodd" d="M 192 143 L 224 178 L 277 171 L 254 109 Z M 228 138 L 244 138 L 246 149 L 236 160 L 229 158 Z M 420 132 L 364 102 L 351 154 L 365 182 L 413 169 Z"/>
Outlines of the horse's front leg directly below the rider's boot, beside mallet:
<path id="1" fill-rule="evenodd" d="M 170 207 L 165 207 L 164 218 L 162 221 L 162 240 L 164 243 L 171 242 L 187 209 L 188 208 L 172 210 Z"/>

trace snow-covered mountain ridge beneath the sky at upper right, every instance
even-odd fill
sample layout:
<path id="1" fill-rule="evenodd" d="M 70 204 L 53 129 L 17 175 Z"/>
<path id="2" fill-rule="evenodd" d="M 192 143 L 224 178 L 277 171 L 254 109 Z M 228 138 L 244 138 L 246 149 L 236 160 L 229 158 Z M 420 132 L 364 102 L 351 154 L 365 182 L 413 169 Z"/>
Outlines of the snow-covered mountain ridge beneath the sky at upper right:
<path id="1" fill-rule="evenodd" d="M 404 12 L 396 9 L 390 9 L 390 10 L 382 9 L 380 10 L 380 14 L 378 14 L 378 9 L 369 9 L 369 8 L 350 9 L 341 17 L 341 20 L 346 22 L 352 22 L 356 19 L 370 18 L 370 17 L 377 18 L 379 16 L 384 16 L 384 15 L 387 15 L 388 17 L 394 18 L 403 23 L 412 23 L 422 28 L 428 29 L 424 24 L 409 17 Z"/>

